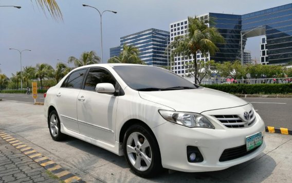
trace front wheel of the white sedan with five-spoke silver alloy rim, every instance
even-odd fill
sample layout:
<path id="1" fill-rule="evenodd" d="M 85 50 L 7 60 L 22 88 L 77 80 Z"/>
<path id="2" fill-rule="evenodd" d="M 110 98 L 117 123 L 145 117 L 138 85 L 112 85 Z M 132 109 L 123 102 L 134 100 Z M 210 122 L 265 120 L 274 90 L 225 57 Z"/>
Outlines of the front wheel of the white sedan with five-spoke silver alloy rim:
<path id="1" fill-rule="evenodd" d="M 148 129 L 133 125 L 123 138 L 125 159 L 131 170 L 141 177 L 153 177 L 163 170 L 158 143 Z"/>

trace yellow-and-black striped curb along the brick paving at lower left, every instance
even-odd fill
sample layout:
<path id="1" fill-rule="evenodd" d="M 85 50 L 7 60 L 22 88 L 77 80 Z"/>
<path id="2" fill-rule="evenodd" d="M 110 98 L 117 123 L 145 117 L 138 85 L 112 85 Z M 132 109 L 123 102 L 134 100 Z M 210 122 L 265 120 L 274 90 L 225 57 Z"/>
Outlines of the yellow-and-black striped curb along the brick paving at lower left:
<path id="1" fill-rule="evenodd" d="M 0 137 L 6 140 L 9 144 L 14 146 L 16 149 L 19 149 L 23 154 L 27 155 L 29 158 L 37 162 L 40 166 L 44 167 L 46 170 L 52 172 L 52 174 L 56 175 L 59 180 L 62 180 L 66 183 L 70 182 L 85 182 L 80 177 L 76 176 L 63 169 L 60 165 L 56 164 L 54 161 L 51 161 L 46 156 L 43 156 L 41 153 L 33 150 L 27 145 L 23 144 L 21 141 L 16 138 L 10 136 L 4 131 L 0 131 Z"/>

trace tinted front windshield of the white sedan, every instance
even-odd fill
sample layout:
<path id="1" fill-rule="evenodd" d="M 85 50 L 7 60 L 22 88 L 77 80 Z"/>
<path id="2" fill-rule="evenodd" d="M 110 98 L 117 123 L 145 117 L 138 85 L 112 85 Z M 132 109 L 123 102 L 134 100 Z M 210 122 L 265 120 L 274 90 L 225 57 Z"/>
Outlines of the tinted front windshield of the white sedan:
<path id="1" fill-rule="evenodd" d="M 147 66 L 114 66 L 124 82 L 138 91 L 195 89 L 198 86 L 166 69 Z"/>

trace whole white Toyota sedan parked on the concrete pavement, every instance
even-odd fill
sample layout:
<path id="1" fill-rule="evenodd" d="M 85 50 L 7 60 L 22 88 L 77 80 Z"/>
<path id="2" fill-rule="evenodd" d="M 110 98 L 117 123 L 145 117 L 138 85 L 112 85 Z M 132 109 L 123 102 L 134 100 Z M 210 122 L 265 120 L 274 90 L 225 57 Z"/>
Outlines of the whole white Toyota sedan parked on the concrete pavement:
<path id="1" fill-rule="evenodd" d="M 125 155 L 142 177 L 223 170 L 266 146 L 264 121 L 245 100 L 152 66 L 76 68 L 47 91 L 44 110 L 53 140 L 66 134 Z"/>

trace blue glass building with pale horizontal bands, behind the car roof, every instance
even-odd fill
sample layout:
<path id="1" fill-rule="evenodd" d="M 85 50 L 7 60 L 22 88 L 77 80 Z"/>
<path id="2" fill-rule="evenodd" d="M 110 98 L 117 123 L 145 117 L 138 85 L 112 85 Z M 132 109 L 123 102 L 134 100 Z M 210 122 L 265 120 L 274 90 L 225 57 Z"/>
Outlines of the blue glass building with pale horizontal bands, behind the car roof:
<path id="1" fill-rule="evenodd" d="M 167 66 L 168 57 L 166 48 L 169 43 L 169 32 L 158 29 L 147 29 L 120 38 L 120 47 L 110 49 L 114 51 L 122 49 L 123 45 L 133 45 L 139 49 L 139 57 L 149 66 Z M 112 57 L 112 56 L 111 56 Z M 169 59 L 170 60 L 170 59 Z"/>

